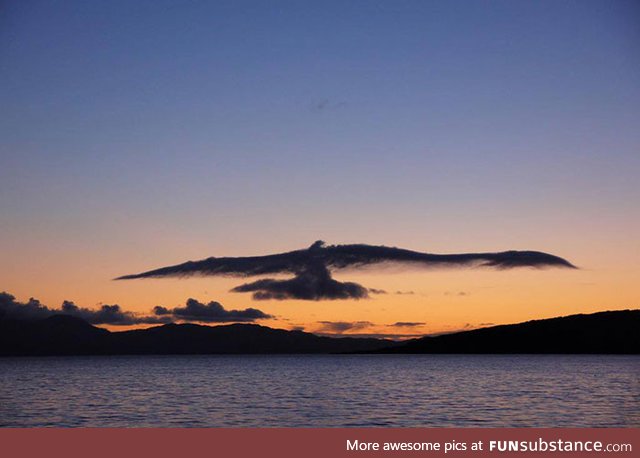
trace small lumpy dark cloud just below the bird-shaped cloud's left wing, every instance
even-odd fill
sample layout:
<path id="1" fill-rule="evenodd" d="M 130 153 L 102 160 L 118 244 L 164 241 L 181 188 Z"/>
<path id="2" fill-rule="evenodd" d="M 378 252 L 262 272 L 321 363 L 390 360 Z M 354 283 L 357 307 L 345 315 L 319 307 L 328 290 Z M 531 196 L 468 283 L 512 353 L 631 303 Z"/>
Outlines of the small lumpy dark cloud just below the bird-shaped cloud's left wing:
<path id="1" fill-rule="evenodd" d="M 168 309 L 166 307 L 155 307 L 153 313 L 156 316 L 172 316 L 175 319 L 186 321 L 202 321 L 202 322 L 248 322 L 261 320 L 265 318 L 273 318 L 261 310 L 247 308 L 244 310 L 225 310 L 219 302 L 209 302 L 203 304 L 195 299 L 187 300 L 184 307 L 175 307 Z"/>

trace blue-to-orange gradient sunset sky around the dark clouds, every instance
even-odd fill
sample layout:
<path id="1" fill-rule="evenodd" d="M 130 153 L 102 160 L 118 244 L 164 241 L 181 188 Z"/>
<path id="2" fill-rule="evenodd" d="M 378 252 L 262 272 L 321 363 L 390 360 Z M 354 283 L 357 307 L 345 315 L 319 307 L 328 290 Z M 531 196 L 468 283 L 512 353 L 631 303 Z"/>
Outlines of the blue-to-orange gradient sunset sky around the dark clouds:
<path id="1" fill-rule="evenodd" d="M 638 308 L 639 121 L 634 1 L 6 1 L 0 291 L 320 333 Z M 318 239 L 580 269 L 336 274 L 411 293 L 358 301 L 112 281 Z"/>

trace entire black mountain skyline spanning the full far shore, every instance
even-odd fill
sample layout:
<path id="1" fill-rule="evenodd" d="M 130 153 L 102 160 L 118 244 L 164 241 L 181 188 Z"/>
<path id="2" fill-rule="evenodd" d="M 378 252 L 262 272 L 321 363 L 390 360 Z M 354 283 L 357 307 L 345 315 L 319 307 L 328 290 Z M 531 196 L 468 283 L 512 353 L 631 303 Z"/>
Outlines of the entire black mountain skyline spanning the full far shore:
<path id="1" fill-rule="evenodd" d="M 0 356 L 284 353 L 640 354 L 640 310 L 493 326 L 405 342 L 322 337 L 256 324 L 109 332 L 68 315 L 0 320 Z"/>

